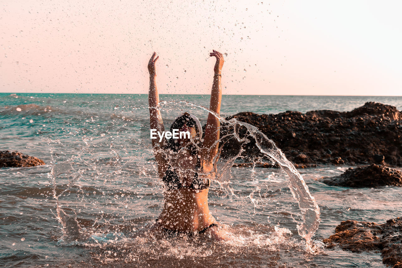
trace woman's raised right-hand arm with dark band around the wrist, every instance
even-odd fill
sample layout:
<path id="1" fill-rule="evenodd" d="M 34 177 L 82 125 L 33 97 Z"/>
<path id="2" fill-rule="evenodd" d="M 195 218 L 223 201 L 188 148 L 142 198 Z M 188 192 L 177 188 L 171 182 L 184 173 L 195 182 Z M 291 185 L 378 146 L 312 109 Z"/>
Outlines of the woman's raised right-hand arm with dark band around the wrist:
<path id="1" fill-rule="evenodd" d="M 222 66 L 224 65 L 224 56 L 222 55 L 222 53 L 217 52 L 215 50 L 213 50 L 213 52 L 210 53 L 209 56 L 216 58 L 215 66 L 213 68 L 214 76 L 213 76 L 211 101 L 209 103 L 209 109 L 219 115 L 221 110 L 221 99 L 222 99 L 221 72 L 222 72 Z M 210 159 L 216 155 L 218 150 L 217 140 L 219 140 L 219 126 L 220 126 L 219 119 L 212 113 L 209 113 L 207 125 L 205 126 L 203 147 L 208 148 Z"/>

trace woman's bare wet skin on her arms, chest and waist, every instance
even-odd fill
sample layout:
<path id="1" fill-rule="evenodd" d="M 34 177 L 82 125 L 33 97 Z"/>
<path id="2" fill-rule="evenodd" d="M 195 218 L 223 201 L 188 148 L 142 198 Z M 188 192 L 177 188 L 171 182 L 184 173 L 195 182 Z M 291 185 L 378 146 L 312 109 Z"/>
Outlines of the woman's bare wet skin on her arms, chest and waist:
<path id="1" fill-rule="evenodd" d="M 220 111 L 220 103 L 222 99 L 221 70 L 224 64 L 224 57 L 221 53 L 215 50 L 213 50 L 209 56 L 216 58 L 209 106 L 212 113 L 208 114 L 203 142 L 199 143 L 199 147 L 201 148 L 199 156 L 191 155 L 191 152 L 186 149 L 189 142 L 191 142 L 191 139 L 194 139 L 197 135 L 195 128 L 190 128 L 186 126 L 186 124 L 180 128 L 180 131 L 189 131 L 191 133 L 191 138 L 182 138 L 178 140 L 182 149 L 178 152 L 178 155 L 174 156 L 174 159 L 168 157 L 166 152 L 162 149 L 166 147 L 166 139 L 162 141 L 158 141 L 157 139 L 152 140 L 155 159 L 158 163 L 159 177 L 162 179 L 166 170 L 172 166 L 177 172 L 180 183 L 182 183 L 184 187 L 165 192 L 164 208 L 158 218 L 158 223 L 152 227 L 151 231 L 160 231 L 160 233 L 163 233 L 163 229 L 169 229 L 172 231 L 193 233 L 209 227 L 212 223 L 217 223 L 209 212 L 209 190 L 189 188 L 195 176 L 197 157 L 201 157 L 201 169 L 203 173 L 201 174 L 198 172 L 199 179 L 206 180 L 213 179 L 214 177 L 211 171 L 213 171 L 213 158 L 217 155 L 218 150 L 217 140 L 219 140 L 220 122 L 213 113 L 219 115 Z M 155 62 L 158 58 L 159 56 L 156 57 L 156 53 L 154 53 L 148 62 L 148 71 L 150 73 L 148 103 L 150 107 L 151 129 L 163 132 L 164 125 L 160 113 L 158 89 L 156 87 Z M 205 232 L 205 235 L 212 237 L 213 239 L 225 239 L 225 235 L 219 233 L 219 230 L 220 227 L 210 227 Z"/>

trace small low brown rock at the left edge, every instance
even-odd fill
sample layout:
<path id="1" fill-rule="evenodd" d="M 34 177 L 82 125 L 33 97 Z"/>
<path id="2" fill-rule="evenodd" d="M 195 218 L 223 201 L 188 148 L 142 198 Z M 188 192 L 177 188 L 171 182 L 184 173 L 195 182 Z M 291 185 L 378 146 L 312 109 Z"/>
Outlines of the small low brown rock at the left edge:
<path id="1" fill-rule="evenodd" d="M 35 167 L 39 165 L 45 165 L 45 162 L 19 152 L 0 151 L 0 167 Z"/>

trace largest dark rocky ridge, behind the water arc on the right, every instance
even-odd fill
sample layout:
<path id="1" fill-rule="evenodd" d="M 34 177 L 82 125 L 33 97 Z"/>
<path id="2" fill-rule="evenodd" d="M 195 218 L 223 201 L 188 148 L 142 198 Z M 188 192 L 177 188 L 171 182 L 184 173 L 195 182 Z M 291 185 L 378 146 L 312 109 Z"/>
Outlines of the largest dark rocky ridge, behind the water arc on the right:
<path id="1" fill-rule="evenodd" d="M 390 105 L 368 102 L 349 112 L 242 112 L 226 119 L 232 118 L 256 126 L 295 164 L 402 166 L 402 113 Z M 229 133 L 233 133 L 233 128 L 222 124 L 221 137 Z M 246 129 L 239 133 L 246 134 Z M 235 139 L 223 147 L 222 156 L 238 151 Z M 254 140 L 244 149 L 245 161 L 263 157 Z"/>

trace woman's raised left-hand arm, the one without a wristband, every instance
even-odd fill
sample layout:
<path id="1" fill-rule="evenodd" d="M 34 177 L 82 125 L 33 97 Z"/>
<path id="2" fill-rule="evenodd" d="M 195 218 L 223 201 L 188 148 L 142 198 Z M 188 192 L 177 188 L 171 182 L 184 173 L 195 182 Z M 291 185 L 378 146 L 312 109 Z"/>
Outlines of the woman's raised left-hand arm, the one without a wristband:
<path id="1" fill-rule="evenodd" d="M 151 129 L 156 129 L 156 131 L 162 133 L 165 131 L 165 127 L 163 125 L 162 115 L 160 114 L 160 106 L 159 106 L 159 93 L 156 87 L 156 70 L 155 70 L 155 62 L 158 60 L 159 56 L 156 57 L 156 53 L 152 54 L 150 61 L 148 62 L 148 72 L 150 73 L 150 89 L 148 92 L 148 105 L 150 109 L 150 127 Z M 157 136 L 157 135 L 156 135 Z M 154 155 L 156 162 L 158 163 L 158 173 L 159 176 L 163 176 L 166 171 L 166 156 L 164 155 L 164 151 L 162 147 L 164 146 L 166 139 L 163 138 L 161 142 L 159 142 L 159 137 L 156 139 L 152 139 L 152 147 L 154 148 Z"/>

